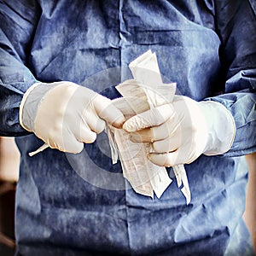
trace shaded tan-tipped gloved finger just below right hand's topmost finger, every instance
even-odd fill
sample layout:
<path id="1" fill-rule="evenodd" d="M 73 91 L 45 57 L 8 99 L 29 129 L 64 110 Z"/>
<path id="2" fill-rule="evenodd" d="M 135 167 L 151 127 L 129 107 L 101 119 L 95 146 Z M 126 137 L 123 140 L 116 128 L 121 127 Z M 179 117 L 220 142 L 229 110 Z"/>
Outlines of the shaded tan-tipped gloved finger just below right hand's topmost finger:
<path id="1" fill-rule="evenodd" d="M 168 136 L 166 123 L 130 133 L 130 139 L 133 143 L 154 143 L 166 139 Z"/>

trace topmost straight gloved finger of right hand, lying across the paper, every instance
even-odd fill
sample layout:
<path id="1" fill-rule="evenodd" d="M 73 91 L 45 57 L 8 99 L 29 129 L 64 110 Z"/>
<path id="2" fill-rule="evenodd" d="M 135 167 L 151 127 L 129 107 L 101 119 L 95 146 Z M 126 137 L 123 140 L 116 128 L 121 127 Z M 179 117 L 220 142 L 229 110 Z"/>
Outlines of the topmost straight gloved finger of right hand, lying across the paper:
<path id="1" fill-rule="evenodd" d="M 149 109 L 128 119 L 123 128 L 125 131 L 139 131 L 148 127 L 158 126 L 170 119 L 174 114 L 172 104 L 162 105 L 157 108 Z"/>

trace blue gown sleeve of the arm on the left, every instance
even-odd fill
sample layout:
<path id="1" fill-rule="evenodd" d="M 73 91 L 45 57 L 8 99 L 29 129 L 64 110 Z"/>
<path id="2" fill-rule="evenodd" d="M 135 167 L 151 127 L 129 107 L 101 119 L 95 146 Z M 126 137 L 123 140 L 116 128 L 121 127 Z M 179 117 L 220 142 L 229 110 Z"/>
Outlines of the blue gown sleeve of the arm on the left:
<path id="1" fill-rule="evenodd" d="M 37 81 L 28 67 L 39 17 L 37 1 L 0 0 L 0 136 L 27 134 L 19 123 L 19 107 Z"/>

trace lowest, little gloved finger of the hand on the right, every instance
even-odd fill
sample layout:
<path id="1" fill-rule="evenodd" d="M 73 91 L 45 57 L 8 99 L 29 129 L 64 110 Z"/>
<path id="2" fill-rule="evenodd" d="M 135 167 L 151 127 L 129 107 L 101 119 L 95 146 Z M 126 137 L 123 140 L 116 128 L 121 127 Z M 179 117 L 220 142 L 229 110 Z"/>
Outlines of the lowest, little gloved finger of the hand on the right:
<path id="1" fill-rule="evenodd" d="M 157 166 L 176 166 L 179 164 L 184 164 L 183 159 L 181 158 L 181 152 L 177 149 L 174 152 L 169 153 L 149 153 L 148 159 Z"/>

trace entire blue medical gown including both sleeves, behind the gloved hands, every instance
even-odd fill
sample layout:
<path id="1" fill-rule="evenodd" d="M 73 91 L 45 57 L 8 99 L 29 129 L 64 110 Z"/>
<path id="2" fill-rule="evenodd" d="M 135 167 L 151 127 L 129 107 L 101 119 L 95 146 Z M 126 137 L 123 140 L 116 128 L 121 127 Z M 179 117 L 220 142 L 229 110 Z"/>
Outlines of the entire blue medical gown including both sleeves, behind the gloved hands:
<path id="1" fill-rule="evenodd" d="M 244 211 L 239 156 L 256 149 L 255 10 L 253 0 L 0 1 L 0 132 L 20 148 L 21 254 L 224 254 Z M 236 122 L 229 152 L 185 166 L 188 206 L 175 178 L 160 199 L 135 193 L 104 133 L 80 154 L 48 148 L 29 157 L 43 142 L 19 124 L 21 98 L 36 81 L 73 81 L 115 98 L 113 86 L 131 78 L 127 65 L 148 49 L 178 93 L 220 102 Z M 242 232 L 231 255 L 246 254 Z"/>

